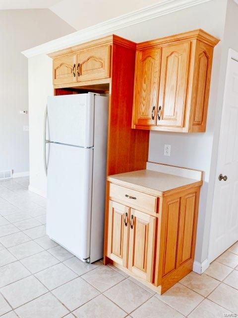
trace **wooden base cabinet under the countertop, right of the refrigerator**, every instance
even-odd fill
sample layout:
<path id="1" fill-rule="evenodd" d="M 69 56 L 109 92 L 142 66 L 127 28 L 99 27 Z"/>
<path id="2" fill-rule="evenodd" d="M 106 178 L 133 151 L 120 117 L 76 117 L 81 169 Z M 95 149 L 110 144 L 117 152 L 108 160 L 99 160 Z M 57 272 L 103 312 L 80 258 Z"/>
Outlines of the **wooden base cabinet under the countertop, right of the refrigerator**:
<path id="1" fill-rule="evenodd" d="M 133 191 L 131 206 L 128 195 L 116 196 L 115 184 L 108 186 L 106 259 L 164 293 L 192 270 L 200 185 L 158 197 L 155 211 L 147 213 L 145 206 L 143 212 L 133 207 L 142 194 L 133 185 L 124 187 L 124 193 Z"/>

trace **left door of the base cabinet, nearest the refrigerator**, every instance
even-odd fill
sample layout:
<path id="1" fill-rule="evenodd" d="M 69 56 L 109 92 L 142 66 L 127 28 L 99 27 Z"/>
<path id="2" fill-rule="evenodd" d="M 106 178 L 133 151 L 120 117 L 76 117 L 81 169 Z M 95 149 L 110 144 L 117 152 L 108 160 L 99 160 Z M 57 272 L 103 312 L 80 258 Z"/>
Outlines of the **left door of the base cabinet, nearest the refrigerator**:
<path id="1" fill-rule="evenodd" d="M 128 229 L 129 208 L 109 201 L 107 256 L 124 267 L 127 265 Z"/>

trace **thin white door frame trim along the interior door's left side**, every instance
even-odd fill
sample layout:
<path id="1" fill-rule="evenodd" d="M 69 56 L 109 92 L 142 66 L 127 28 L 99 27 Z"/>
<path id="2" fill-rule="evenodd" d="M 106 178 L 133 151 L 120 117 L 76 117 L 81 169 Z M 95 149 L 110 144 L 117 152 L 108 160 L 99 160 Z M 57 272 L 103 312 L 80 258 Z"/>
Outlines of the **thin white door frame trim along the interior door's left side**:
<path id="1" fill-rule="evenodd" d="M 226 93 L 228 89 L 228 81 L 229 81 L 229 73 L 231 70 L 231 60 L 236 60 L 238 62 L 238 52 L 229 48 L 228 50 L 228 57 L 227 57 L 227 69 L 226 69 L 226 77 L 225 77 L 225 86 L 224 86 L 224 93 L 223 93 L 223 103 L 222 103 L 222 113 L 221 113 L 221 121 L 220 121 L 220 131 L 219 131 L 219 141 L 218 141 L 218 151 L 217 151 L 217 158 L 216 158 L 216 171 L 215 171 L 215 177 L 217 177 L 217 172 L 218 172 L 218 156 L 220 152 L 222 151 L 221 149 L 221 132 L 222 132 L 222 125 L 224 122 L 224 115 L 225 115 L 225 100 L 226 100 Z M 215 217 L 215 205 L 214 205 L 214 200 L 215 200 L 215 180 L 214 180 L 214 187 L 213 187 L 213 200 L 212 200 L 212 213 L 211 213 L 211 221 L 210 221 L 210 233 L 209 233 L 209 242 L 208 242 L 208 262 L 209 264 L 214 260 L 214 257 L 211 256 L 211 239 L 212 239 L 212 225 L 213 225 L 213 218 Z M 219 256 L 219 255 L 218 255 Z M 217 257 L 218 257 L 217 256 Z"/>

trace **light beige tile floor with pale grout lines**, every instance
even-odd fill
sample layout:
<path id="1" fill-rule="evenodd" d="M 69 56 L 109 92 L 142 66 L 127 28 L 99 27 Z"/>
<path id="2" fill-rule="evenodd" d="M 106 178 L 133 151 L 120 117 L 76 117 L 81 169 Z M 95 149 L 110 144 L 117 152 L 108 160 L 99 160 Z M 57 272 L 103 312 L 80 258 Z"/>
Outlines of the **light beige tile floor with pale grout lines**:
<path id="1" fill-rule="evenodd" d="M 0 181 L 0 318 L 223 318 L 238 314 L 238 242 L 162 296 L 46 236 L 46 199 Z M 227 316 L 228 317 L 228 316 Z M 234 316 L 235 317 L 235 316 Z"/>

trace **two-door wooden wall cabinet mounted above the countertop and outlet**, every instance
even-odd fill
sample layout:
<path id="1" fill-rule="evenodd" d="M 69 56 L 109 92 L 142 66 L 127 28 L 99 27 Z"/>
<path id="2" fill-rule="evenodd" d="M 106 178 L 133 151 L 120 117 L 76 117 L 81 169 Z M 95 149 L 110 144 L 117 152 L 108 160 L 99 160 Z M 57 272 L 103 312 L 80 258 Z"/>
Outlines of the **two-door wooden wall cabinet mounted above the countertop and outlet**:
<path id="1" fill-rule="evenodd" d="M 138 44 L 132 128 L 204 132 L 218 42 L 199 29 Z"/>

